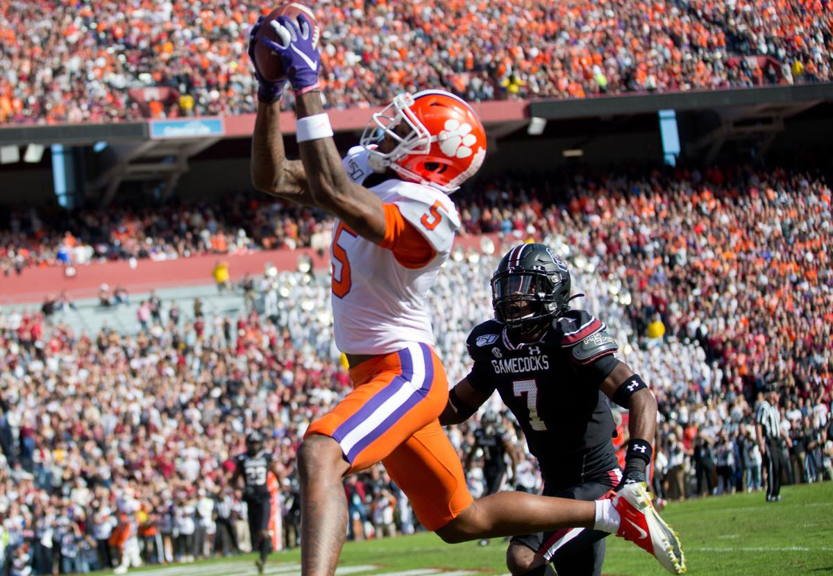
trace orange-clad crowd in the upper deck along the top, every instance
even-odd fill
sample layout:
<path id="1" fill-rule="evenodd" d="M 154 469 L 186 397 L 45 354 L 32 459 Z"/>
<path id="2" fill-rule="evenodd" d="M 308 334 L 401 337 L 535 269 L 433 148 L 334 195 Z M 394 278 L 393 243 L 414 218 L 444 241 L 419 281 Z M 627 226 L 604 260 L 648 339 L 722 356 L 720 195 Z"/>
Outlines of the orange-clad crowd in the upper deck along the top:
<path id="1" fill-rule="evenodd" d="M 491 100 L 828 81 L 830 3 L 331 0 L 315 11 L 323 93 L 342 108 L 438 86 Z M 268 10 L 3 2 L 0 123 L 252 112 L 247 33 Z"/>

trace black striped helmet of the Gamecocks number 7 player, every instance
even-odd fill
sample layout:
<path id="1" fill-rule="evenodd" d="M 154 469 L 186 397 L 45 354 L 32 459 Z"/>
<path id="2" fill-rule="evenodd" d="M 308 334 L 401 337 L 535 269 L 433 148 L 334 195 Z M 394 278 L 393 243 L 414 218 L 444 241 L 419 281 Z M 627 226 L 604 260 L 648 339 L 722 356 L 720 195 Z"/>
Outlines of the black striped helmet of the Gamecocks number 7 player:
<path id="1" fill-rule="evenodd" d="M 495 318 L 514 335 L 528 335 L 551 324 L 569 310 L 569 300 L 570 272 L 542 244 L 515 246 L 491 276 Z"/>

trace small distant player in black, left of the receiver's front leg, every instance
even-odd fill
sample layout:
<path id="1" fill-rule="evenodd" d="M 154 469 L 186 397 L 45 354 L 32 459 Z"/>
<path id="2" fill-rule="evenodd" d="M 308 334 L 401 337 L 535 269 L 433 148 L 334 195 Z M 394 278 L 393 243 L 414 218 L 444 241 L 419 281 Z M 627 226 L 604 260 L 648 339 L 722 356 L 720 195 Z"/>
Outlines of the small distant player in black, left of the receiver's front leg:
<path id="1" fill-rule="evenodd" d="M 257 430 L 247 435 L 246 453 L 238 454 L 234 464 L 232 486 L 237 486 L 239 479 L 243 478 L 243 500 L 246 502 L 252 548 L 260 552 L 260 558 L 255 564 L 257 572 L 263 574 L 267 556 L 272 550 L 272 539 L 269 537 L 272 501 L 267 486 L 267 474 L 272 472 L 277 479 L 281 479 L 281 472 L 272 452 L 263 449 L 263 436 Z"/>

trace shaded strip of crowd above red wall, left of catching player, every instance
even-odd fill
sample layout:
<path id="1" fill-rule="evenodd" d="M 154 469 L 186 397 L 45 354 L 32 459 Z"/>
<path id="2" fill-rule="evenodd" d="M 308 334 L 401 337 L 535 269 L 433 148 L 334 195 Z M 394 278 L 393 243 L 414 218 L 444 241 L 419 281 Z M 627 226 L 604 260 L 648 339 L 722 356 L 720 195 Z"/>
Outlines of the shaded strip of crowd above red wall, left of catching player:
<path id="1" fill-rule="evenodd" d="M 330 226 L 322 221 L 321 212 L 292 208 L 260 195 L 230 195 L 212 204 L 108 206 L 52 216 L 12 209 L 4 220 L 0 273 L 5 276 L 22 274 L 29 266 L 326 248 L 330 242 Z"/>

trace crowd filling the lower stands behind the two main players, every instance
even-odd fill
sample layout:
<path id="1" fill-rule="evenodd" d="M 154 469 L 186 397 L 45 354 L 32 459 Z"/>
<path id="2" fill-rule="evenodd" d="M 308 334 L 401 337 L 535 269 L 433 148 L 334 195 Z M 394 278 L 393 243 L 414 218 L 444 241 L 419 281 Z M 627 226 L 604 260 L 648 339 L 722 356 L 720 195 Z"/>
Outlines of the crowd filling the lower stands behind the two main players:
<path id="1" fill-rule="evenodd" d="M 787 479 L 833 479 L 830 187 L 749 167 L 617 174 L 506 179 L 458 206 L 468 230 L 501 231 L 504 248 L 534 237 L 565 256 L 586 295 L 576 305 L 606 321 L 657 396 L 662 497 L 761 487 L 752 424 L 770 384 L 793 440 Z M 500 251 L 456 250 L 432 291 L 452 382 L 466 375 L 466 335 L 491 317 Z M 332 347 L 327 276 L 282 272 L 256 285 L 257 311 L 247 300 L 237 319 L 156 299 L 135 333 L 0 315 L 0 558 L 11 574 L 135 565 L 139 550 L 170 562 L 247 549 L 246 510 L 227 480 L 253 428 L 269 431 L 288 472 L 282 514 L 295 544 L 295 449 L 349 381 Z M 461 458 L 476 425 L 449 429 Z M 478 494 L 483 464 L 473 462 Z M 508 484 L 535 489 L 523 464 Z M 346 496 L 353 538 L 416 528 L 382 469 L 352 479 Z"/>

